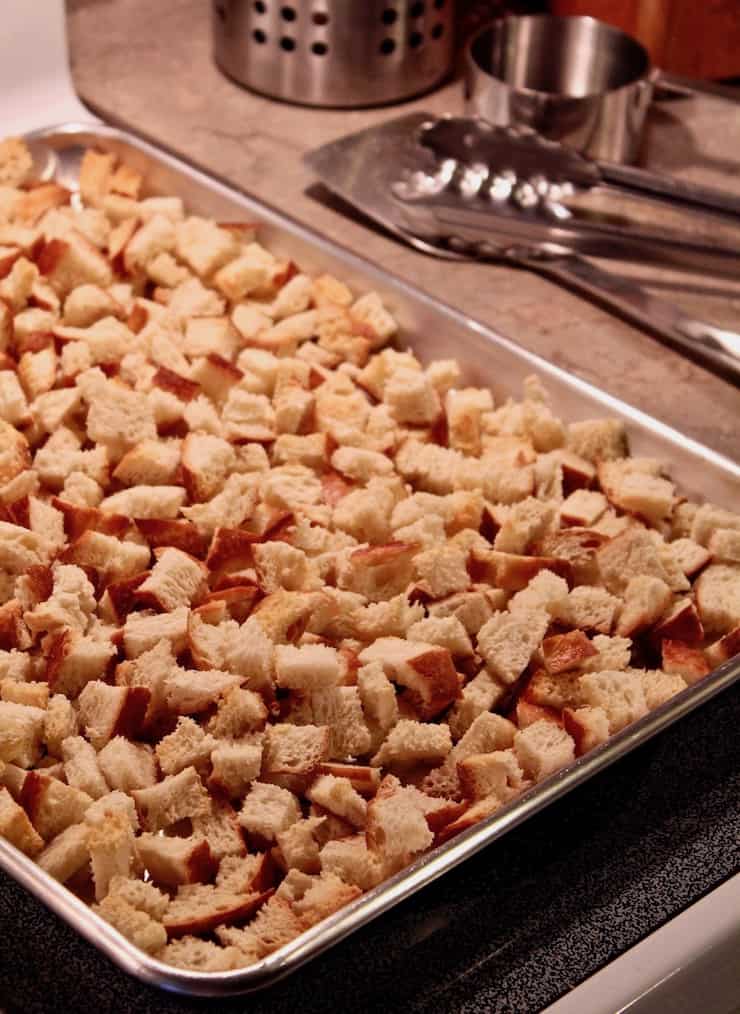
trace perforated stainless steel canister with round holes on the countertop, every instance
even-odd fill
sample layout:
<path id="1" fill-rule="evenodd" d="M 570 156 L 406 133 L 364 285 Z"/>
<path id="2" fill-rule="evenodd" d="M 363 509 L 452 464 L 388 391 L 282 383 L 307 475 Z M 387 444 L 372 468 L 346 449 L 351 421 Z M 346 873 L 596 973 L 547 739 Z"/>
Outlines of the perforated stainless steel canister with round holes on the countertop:
<path id="1" fill-rule="evenodd" d="M 455 0 L 214 0 L 214 52 L 230 77 L 306 105 L 398 101 L 454 60 Z"/>

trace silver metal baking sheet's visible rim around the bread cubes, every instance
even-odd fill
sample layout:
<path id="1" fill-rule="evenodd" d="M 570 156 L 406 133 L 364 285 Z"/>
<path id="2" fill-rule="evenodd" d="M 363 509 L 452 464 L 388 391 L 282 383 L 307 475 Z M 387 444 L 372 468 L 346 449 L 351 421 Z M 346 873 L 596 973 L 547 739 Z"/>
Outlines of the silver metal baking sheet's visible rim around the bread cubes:
<path id="1" fill-rule="evenodd" d="M 191 212 L 221 221 L 260 222 L 267 244 L 292 258 L 305 271 L 331 272 L 358 290 L 373 288 L 380 292 L 399 321 L 401 343 L 421 359 L 454 356 L 467 382 L 490 386 L 499 397 L 519 391 L 523 379 L 536 372 L 544 379 L 563 418 L 574 421 L 610 415 L 623 419 L 633 451 L 670 462 L 672 478 L 681 492 L 727 507 L 737 506 L 740 466 L 729 458 L 565 373 L 479 321 L 393 278 L 182 159 L 109 127 L 64 124 L 35 131 L 27 135 L 26 140 L 34 151 L 39 169 L 48 178 L 58 178 L 67 186 L 74 186 L 84 149 L 94 145 L 117 153 L 142 170 L 150 195 L 177 195 Z M 740 657 L 737 657 L 502 807 L 492 817 L 422 856 L 279 951 L 243 969 L 207 973 L 187 971 L 149 957 L 32 860 L 1 839 L 0 867 L 120 967 L 142 982 L 192 996 L 247 993 L 294 971 L 739 678 Z"/>

